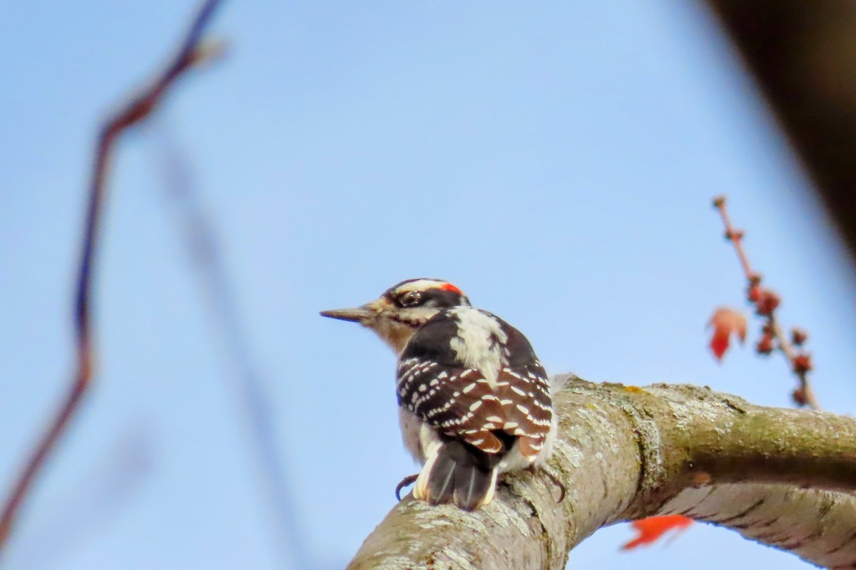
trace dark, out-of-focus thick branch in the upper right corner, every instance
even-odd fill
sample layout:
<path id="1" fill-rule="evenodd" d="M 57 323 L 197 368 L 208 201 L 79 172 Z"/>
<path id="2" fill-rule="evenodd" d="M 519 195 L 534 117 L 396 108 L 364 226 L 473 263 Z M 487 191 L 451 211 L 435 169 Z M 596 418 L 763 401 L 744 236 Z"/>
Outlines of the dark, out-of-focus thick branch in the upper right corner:
<path id="1" fill-rule="evenodd" d="M 856 252 L 856 3 L 708 0 Z"/>

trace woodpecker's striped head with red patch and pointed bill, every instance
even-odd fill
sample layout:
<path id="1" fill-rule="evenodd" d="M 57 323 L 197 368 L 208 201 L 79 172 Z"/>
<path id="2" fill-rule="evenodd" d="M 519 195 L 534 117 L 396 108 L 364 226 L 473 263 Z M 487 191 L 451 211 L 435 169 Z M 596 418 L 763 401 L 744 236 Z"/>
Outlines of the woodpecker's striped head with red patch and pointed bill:
<path id="1" fill-rule="evenodd" d="M 377 336 L 401 353 L 413 333 L 443 309 L 469 306 L 460 289 L 441 279 L 407 279 L 383 291 L 371 303 L 354 309 L 321 311 L 331 319 L 351 320 L 377 332 Z"/>

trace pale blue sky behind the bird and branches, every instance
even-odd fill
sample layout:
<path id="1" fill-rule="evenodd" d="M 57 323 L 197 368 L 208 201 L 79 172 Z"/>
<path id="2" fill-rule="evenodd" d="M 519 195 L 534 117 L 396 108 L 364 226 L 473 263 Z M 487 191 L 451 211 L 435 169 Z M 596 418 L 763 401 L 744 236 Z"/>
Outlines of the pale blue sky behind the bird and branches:
<path id="1" fill-rule="evenodd" d="M 98 121 L 169 56 L 192 2 L 0 8 L 0 481 L 72 363 L 71 281 Z M 710 198 L 810 332 L 852 412 L 853 267 L 700 3 L 227 3 L 229 56 L 124 138 L 98 257 L 98 380 L 27 504 L 9 568 L 294 567 L 259 491 L 231 363 L 159 172 L 163 132 L 218 228 L 313 567 L 342 567 L 413 464 L 394 356 L 318 310 L 449 279 L 551 373 L 789 405 L 784 362 L 704 325 L 743 280 Z M 574 565 L 808 567 L 722 530 Z"/>

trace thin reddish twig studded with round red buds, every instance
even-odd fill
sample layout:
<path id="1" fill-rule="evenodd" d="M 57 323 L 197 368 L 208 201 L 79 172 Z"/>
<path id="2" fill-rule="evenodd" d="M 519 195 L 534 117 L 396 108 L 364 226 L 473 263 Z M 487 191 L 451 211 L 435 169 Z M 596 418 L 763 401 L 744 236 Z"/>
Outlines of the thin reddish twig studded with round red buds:
<path id="1" fill-rule="evenodd" d="M 791 395 L 794 403 L 800 407 L 819 410 L 820 404 L 817 403 L 817 397 L 815 397 L 808 379 L 808 373 L 811 370 L 811 358 L 805 352 L 800 352 L 794 348 L 794 344 L 802 344 L 805 340 L 805 333 L 794 331 L 794 343 L 791 343 L 787 335 L 782 332 L 782 326 L 776 319 L 779 297 L 773 291 L 761 287 L 762 277 L 759 273 L 752 271 L 746 250 L 743 249 L 744 234 L 741 230 L 735 230 L 731 224 L 725 202 L 726 198 L 719 196 L 714 198 L 713 205 L 722 217 L 722 224 L 725 226 L 725 238 L 734 244 L 734 251 L 737 252 L 740 267 L 743 267 L 743 273 L 746 275 L 747 297 L 755 305 L 758 315 L 764 318 L 762 337 L 758 341 L 756 350 L 760 354 L 769 354 L 774 348 L 779 350 L 788 359 L 788 365 L 800 383 Z M 801 339 L 798 339 L 800 337 Z"/>

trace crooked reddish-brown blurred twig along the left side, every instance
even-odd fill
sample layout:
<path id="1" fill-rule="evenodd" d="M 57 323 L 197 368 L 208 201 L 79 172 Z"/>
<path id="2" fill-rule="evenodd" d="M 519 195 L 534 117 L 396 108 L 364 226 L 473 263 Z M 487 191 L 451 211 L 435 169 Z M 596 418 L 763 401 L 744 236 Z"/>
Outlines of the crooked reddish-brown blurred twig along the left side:
<path id="1" fill-rule="evenodd" d="M 129 127 L 151 115 L 152 111 L 158 107 L 158 103 L 161 102 L 164 93 L 184 72 L 193 68 L 197 63 L 208 59 L 210 53 L 200 49 L 200 40 L 219 3 L 219 0 L 206 0 L 190 26 L 175 59 L 169 63 L 169 66 L 152 85 L 133 97 L 130 103 L 113 115 L 98 133 L 95 163 L 89 186 L 89 203 L 86 206 L 83 247 L 80 253 L 80 266 L 74 296 L 74 336 L 77 347 L 74 381 L 58 414 L 51 421 L 51 426 L 39 441 L 33 455 L 30 456 L 21 475 L 15 481 L 9 498 L 3 505 L 3 514 L 0 515 L 0 555 L 8 543 L 9 534 L 15 525 L 17 515 L 20 513 L 21 504 L 32 488 L 33 481 L 45 467 L 45 460 L 56 448 L 56 442 L 67 429 L 69 420 L 80 407 L 80 402 L 92 383 L 92 314 L 90 311 L 92 267 L 98 240 L 98 226 L 103 214 L 104 181 L 116 139 Z"/>

